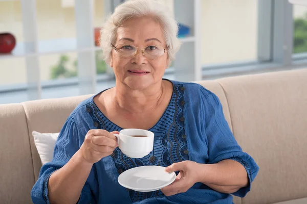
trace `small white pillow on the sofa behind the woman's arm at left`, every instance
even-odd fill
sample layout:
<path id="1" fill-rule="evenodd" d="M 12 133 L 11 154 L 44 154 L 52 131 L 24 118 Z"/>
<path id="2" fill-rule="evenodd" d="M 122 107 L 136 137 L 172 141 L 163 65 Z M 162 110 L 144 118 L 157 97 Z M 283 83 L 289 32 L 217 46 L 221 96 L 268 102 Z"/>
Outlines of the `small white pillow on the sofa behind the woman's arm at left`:
<path id="1" fill-rule="evenodd" d="M 59 133 L 38 133 L 33 131 L 32 135 L 34 137 L 34 143 L 38 151 L 41 164 L 44 165 L 51 162 L 53 159 L 54 145 Z"/>

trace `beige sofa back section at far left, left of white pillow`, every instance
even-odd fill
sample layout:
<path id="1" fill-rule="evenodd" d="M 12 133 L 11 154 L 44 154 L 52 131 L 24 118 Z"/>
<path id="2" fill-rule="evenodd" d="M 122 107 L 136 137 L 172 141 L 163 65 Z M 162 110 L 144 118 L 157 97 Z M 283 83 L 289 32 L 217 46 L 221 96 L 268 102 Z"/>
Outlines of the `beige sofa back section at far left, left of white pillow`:
<path id="1" fill-rule="evenodd" d="M 32 203 L 35 181 L 24 108 L 0 105 L 0 113 L 0 202 Z"/>

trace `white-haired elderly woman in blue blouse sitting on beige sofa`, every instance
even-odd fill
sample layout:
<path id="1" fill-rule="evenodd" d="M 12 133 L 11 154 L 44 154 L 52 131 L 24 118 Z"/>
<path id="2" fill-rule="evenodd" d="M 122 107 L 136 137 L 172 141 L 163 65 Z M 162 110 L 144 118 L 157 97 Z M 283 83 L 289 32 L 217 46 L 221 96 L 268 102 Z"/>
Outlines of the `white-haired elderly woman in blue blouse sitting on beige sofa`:
<path id="1" fill-rule="evenodd" d="M 258 167 L 235 141 L 218 98 L 193 83 L 164 80 L 180 47 L 178 25 L 159 2 L 130 0 L 102 28 L 105 61 L 116 86 L 84 100 L 65 122 L 51 163 L 32 190 L 34 203 L 232 203 L 245 196 Z M 155 133 L 149 155 L 134 159 L 112 133 Z M 177 172 L 154 192 L 128 190 L 123 171 L 145 165 Z"/>

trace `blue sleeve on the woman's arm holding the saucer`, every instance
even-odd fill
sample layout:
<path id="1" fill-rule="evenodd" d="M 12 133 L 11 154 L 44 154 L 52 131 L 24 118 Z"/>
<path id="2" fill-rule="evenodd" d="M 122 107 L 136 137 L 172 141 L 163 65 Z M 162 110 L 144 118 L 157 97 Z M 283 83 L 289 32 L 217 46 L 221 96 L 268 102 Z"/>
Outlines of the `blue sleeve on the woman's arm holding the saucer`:
<path id="1" fill-rule="evenodd" d="M 208 141 L 207 163 L 215 164 L 222 160 L 235 160 L 242 164 L 248 174 L 249 185 L 239 189 L 233 195 L 244 197 L 251 189 L 251 183 L 255 179 L 259 167 L 236 142 L 229 125 L 225 119 L 222 104 L 212 92 L 201 88 L 203 108 L 205 112 L 205 133 Z"/>

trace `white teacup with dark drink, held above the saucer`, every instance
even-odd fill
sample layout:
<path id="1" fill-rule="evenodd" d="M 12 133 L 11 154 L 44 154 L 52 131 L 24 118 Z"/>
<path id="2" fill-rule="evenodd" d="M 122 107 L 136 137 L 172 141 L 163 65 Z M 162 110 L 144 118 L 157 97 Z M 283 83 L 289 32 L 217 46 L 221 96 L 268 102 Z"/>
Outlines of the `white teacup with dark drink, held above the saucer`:
<path id="1" fill-rule="evenodd" d="M 130 158 L 142 158 L 153 148 L 154 134 L 142 129 L 123 129 L 117 137 L 119 149 Z"/>

